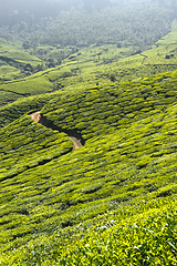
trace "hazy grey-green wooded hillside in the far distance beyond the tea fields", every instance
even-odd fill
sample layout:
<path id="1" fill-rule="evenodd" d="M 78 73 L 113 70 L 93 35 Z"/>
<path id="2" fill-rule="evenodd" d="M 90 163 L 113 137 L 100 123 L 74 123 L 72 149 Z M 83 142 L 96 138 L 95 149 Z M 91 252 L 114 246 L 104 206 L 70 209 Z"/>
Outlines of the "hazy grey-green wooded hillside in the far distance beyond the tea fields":
<path id="1" fill-rule="evenodd" d="M 12 28 L 1 27 L 0 37 L 28 42 L 29 47 L 116 43 L 119 47 L 145 48 L 169 32 L 171 20 L 171 11 L 154 4 L 146 9 L 144 4 L 122 9 L 107 7 L 94 12 L 86 12 L 80 7 L 55 19 L 45 17 L 34 24 L 21 22 Z"/>

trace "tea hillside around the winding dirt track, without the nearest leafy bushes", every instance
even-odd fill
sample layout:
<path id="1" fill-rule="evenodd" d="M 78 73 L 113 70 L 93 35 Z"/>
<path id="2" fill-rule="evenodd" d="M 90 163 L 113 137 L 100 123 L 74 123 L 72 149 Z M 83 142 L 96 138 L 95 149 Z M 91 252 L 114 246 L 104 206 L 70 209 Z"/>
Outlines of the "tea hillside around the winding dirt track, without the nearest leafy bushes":
<path id="1" fill-rule="evenodd" d="M 0 131 L 2 252 L 18 250 L 31 238 L 75 226 L 133 198 L 176 194 L 175 83 L 175 72 L 164 73 L 56 93 L 46 104 L 44 100 L 42 113 L 49 125 L 80 130 L 77 123 L 85 117 L 91 124 L 91 133 L 87 125 L 85 134 L 81 130 L 85 146 L 73 152 L 64 133 L 28 115 L 4 126 Z"/>

